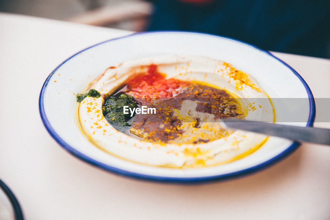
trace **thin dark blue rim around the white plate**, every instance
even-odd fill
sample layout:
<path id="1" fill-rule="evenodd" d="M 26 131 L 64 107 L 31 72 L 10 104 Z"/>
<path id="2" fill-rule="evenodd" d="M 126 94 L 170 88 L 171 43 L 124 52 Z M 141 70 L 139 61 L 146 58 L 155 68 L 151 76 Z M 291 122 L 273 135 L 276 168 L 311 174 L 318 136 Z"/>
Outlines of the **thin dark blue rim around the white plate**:
<path id="1" fill-rule="evenodd" d="M 41 92 L 40 92 L 40 96 L 39 96 L 39 112 L 40 112 L 40 116 L 41 119 L 44 123 L 44 126 L 46 127 L 46 129 L 48 130 L 49 134 L 65 149 L 67 150 L 69 153 L 71 153 L 72 155 L 78 157 L 79 159 L 97 166 L 99 168 L 105 169 L 107 171 L 111 171 L 115 174 L 118 175 L 122 175 L 122 176 L 127 176 L 127 177 L 131 177 L 131 178 L 135 178 L 135 179 L 142 179 L 142 180 L 151 180 L 151 181 L 156 181 L 156 182 L 164 182 L 164 183 L 183 183 L 183 184 L 191 184 L 191 183 L 207 183 L 207 182 L 212 182 L 212 181 L 218 181 L 218 180 L 228 180 L 228 179 L 232 179 L 232 178 L 236 178 L 236 177 L 240 177 L 240 176 L 245 176 L 248 174 L 251 174 L 253 172 L 256 171 L 260 171 L 262 169 L 265 169 L 267 167 L 269 167 L 270 165 L 273 165 L 277 162 L 279 162 L 280 160 L 284 159 L 285 157 L 289 156 L 291 153 L 293 153 L 299 146 L 300 143 L 299 142 L 293 142 L 287 149 L 285 149 L 283 152 L 281 152 L 280 154 L 278 154 L 277 156 L 273 157 L 272 159 L 269 159 L 268 161 L 265 161 L 261 164 L 249 167 L 247 169 L 243 169 L 243 170 L 239 170 L 236 172 L 231 172 L 231 173 L 226 173 L 226 174 L 221 174 L 221 175 L 213 175 L 213 176 L 203 176 L 203 177 L 166 177 L 166 176 L 153 176 L 153 175 L 146 175 L 146 174 L 141 174 L 141 173 L 136 173 L 136 172 L 130 172 L 127 170 L 123 170 L 123 169 L 119 169 L 116 168 L 114 166 L 110 166 L 110 165 L 106 165 L 103 164 L 99 161 L 96 161 L 84 154 L 82 154 L 81 152 L 77 151 L 75 148 L 71 147 L 69 144 L 67 144 L 66 142 L 64 142 L 62 140 L 62 138 L 54 131 L 54 129 L 51 127 L 47 116 L 45 114 L 45 109 L 44 109 L 44 92 L 46 90 L 47 84 L 51 78 L 51 76 L 56 72 L 56 70 L 58 68 L 60 68 L 65 62 L 67 62 L 68 60 L 70 60 L 71 58 L 73 58 L 74 56 L 82 53 L 83 51 L 86 51 L 92 47 L 95 47 L 97 45 L 100 44 L 104 44 L 107 43 L 109 41 L 114 41 L 117 39 L 122 39 L 122 38 L 127 38 L 127 37 L 134 37 L 135 35 L 140 35 L 140 34 L 152 34 L 152 33 L 188 33 L 188 34 L 200 34 L 200 35 L 206 35 L 206 36 L 214 36 L 214 37 L 219 37 L 219 38 L 226 38 L 226 39 L 230 39 L 230 40 L 234 40 L 243 44 L 246 44 L 248 46 L 254 47 L 255 49 L 277 59 L 278 61 L 280 61 L 283 65 L 285 65 L 286 67 L 288 67 L 292 73 L 294 73 L 298 79 L 301 81 L 301 83 L 304 85 L 306 92 L 308 94 L 308 98 L 309 98 L 309 103 L 310 103 L 310 114 L 308 117 L 308 121 L 307 121 L 307 125 L 306 127 L 312 127 L 313 123 L 314 123 L 314 119 L 315 119 L 315 101 L 314 101 L 314 96 L 312 94 L 311 89 L 309 88 L 309 86 L 307 85 L 307 83 L 305 82 L 305 80 L 292 68 L 290 67 L 288 64 L 286 64 L 285 62 L 283 62 L 281 59 L 277 58 L 276 56 L 274 56 L 273 54 L 271 54 L 269 51 L 266 50 L 262 50 L 252 44 L 246 43 L 244 41 L 241 40 L 237 40 L 237 39 L 233 39 L 233 38 L 229 38 L 229 37 L 223 37 L 223 36 L 218 36 L 218 35 L 214 35 L 214 34 L 206 34 L 206 33 L 201 33 L 201 32 L 189 32 L 189 31 L 150 31 L 150 32 L 139 32 L 139 33 L 134 33 L 134 34 L 130 34 L 127 36 L 123 36 L 123 37 L 118 37 L 118 38 L 114 38 L 114 39 L 110 39 L 104 42 L 101 42 L 99 44 L 95 44 L 91 47 L 88 47 L 78 53 L 76 53 L 75 55 L 72 55 L 71 57 L 69 57 L 68 59 L 66 59 L 64 62 L 62 62 L 60 65 L 58 65 L 48 76 L 48 78 L 46 79 Z"/>

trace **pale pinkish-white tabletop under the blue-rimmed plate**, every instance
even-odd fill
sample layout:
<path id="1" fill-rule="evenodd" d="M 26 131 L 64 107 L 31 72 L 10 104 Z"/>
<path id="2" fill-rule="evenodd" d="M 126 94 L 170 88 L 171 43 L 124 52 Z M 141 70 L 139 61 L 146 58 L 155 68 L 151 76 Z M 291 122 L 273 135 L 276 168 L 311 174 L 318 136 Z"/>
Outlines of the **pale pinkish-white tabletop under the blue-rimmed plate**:
<path id="1" fill-rule="evenodd" d="M 0 179 L 26 219 L 330 219 L 328 146 L 302 144 L 249 176 L 175 185 L 115 175 L 57 144 L 39 115 L 47 76 L 78 51 L 130 33 L 0 13 Z M 330 60 L 274 54 L 297 70 L 315 97 L 330 97 Z"/>

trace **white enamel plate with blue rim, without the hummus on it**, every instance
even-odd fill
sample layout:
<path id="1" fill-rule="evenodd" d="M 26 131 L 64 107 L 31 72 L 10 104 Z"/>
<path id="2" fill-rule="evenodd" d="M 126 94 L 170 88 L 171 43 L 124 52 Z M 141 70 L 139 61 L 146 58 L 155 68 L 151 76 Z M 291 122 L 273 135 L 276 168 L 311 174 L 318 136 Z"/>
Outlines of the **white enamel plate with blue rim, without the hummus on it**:
<path id="1" fill-rule="evenodd" d="M 312 92 L 301 76 L 268 51 L 225 37 L 192 32 L 149 32 L 109 40 L 87 48 L 60 64 L 46 79 L 40 114 L 50 135 L 68 152 L 92 165 L 134 178 L 163 182 L 207 182 L 248 174 L 278 162 L 298 143 L 270 137 L 254 153 L 231 163 L 202 168 L 165 168 L 129 162 L 90 143 L 76 119 L 76 96 L 108 67 L 162 55 L 197 55 L 222 60 L 251 75 L 270 98 L 303 98 L 298 126 L 312 126 Z M 274 104 L 276 112 L 285 106 Z M 285 123 L 284 123 L 285 124 Z"/>

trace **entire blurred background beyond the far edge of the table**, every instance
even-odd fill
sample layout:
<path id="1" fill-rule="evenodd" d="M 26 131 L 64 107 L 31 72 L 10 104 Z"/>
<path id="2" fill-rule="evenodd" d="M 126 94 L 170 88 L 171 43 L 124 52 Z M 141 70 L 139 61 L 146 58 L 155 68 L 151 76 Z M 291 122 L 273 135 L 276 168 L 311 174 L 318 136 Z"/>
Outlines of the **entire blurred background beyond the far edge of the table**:
<path id="1" fill-rule="evenodd" d="M 330 58 L 329 0 L 0 0 L 0 12 L 132 31 L 205 32 Z"/>

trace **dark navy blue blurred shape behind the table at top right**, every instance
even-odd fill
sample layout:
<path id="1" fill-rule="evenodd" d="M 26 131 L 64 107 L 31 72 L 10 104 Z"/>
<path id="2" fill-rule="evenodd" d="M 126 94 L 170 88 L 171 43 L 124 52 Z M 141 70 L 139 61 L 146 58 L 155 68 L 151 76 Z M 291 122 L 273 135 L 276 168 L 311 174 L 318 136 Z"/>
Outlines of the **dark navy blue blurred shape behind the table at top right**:
<path id="1" fill-rule="evenodd" d="M 330 58 L 329 0 L 149 1 L 149 31 L 205 32 L 265 50 Z"/>

